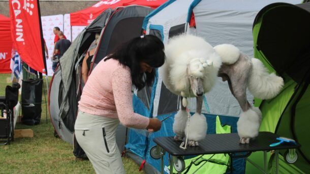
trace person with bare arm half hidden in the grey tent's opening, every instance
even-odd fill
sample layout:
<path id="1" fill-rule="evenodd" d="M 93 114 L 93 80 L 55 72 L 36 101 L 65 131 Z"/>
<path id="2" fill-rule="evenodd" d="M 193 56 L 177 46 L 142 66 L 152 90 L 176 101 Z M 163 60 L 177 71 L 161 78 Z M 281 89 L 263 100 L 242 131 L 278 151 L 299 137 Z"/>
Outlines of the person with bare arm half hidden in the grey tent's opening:
<path id="1" fill-rule="evenodd" d="M 94 49 L 91 49 L 88 51 L 88 53 L 86 53 L 86 56 L 83 59 L 83 63 L 82 63 L 82 79 L 84 81 L 84 83 L 86 83 L 87 80 L 87 76 L 88 76 L 88 72 L 90 70 L 90 65 L 91 65 L 91 60 L 92 57 L 94 57 L 97 45 L 98 45 L 98 41 L 99 41 L 99 37 L 100 37 L 100 33 L 96 33 L 95 36 L 95 45 L 96 47 Z"/>

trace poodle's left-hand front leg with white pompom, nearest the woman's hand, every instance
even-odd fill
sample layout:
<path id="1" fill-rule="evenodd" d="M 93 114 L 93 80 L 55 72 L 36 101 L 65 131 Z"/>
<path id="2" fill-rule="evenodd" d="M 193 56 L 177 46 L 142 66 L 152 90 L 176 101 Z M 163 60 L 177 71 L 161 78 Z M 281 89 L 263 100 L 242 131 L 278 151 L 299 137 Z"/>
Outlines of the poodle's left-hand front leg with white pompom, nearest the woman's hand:
<path id="1" fill-rule="evenodd" d="M 182 97 L 181 97 L 182 101 Z M 188 112 L 186 111 L 186 107 L 181 104 L 181 109 L 174 116 L 173 122 L 173 132 L 176 134 L 174 136 L 174 140 L 182 141 L 184 137 L 184 128 L 187 125 L 188 120 Z"/>

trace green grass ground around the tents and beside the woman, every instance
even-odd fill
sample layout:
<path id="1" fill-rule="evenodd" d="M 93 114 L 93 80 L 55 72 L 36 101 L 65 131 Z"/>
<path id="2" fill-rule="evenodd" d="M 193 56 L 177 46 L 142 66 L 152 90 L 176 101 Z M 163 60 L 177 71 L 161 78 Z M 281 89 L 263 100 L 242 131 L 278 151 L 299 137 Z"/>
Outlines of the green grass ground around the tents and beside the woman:
<path id="1" fill-rule="evenodd" d="M 6 85 L 11 85 L 7 81 L 10 75 L 0 74 L 0 96 L 5 95 Z M 42 100 L 45 100 L 44 93 Z M 46 105 L 42 104 L 39 125 L 16 123 L 15 129 L 32 129 L 34 138 L 17 138 L 10 145 L 0 146 L 0 173 L 95 173 L 88 160 L 75 159 L 71 144 L 53 136 L 49 115 L 46 123 L 45 109 Z M 145 173 L 138 171 L 139 166 L 130 158 L 123 158 L 123 164 L 127 173 Z"/>

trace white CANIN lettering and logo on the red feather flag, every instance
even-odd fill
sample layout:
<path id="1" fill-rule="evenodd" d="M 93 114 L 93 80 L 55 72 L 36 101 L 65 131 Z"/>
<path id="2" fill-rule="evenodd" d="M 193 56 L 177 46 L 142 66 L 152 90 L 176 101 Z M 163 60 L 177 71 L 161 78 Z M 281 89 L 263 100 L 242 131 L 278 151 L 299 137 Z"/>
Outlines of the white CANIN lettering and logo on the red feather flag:
<path id="1" fill-rule="evenodd" d="M 29 1 L 29 0 L 28 0 Z M 20 5 L 20 2 L 18 0 L 13 0 L 12 1 L 12 7 L 13 7 L 13 10 L 14 10 L 14 14 L 15 14 L 15 22 L 16 22 L 16 41 L 24 41 L 24 38 L 23 38 L 23 26 L 21 25 L 22 24 L 22 20 L 21 19 L 18 19 L 18 15 L 21 13 L 20 11 L 20 8 L 21 8 L 21 5 Z M 35 6 L 34 4 L 30 4 L 29 2 L 26 3 L 26 0 L 24 0 L 24 6 L 23 6 L 23 9 L 25 11 L 27 11 L 27 13 L 29 13 L 30 16 L 33 15 L 33 12 L 30 9 L 33 9 Z"/>

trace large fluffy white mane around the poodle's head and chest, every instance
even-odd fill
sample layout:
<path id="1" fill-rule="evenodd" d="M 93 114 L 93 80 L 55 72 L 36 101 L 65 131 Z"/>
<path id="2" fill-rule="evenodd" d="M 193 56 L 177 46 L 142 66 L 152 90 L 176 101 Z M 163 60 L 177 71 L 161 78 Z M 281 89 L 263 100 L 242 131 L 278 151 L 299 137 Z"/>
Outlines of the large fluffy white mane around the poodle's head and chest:
<path id="1" fill-rule="evenodd" d="M 178 35 L 169 40 L 165 53 L 166 62 L 159 72 L 171 92 L 176 95 L 183 92 L 183 97 L 195 97 L 193 92 L 190 92 L 189 75 L 203 78 L 204 93 L 211 90 L 222 61 L 208 42 L 193 35 Z M 188 66 L 192 66 L 190 64 L 193 59 L 211 61 L 213 65 L 204 67 L 200 73 L 189 74 Z"/>

